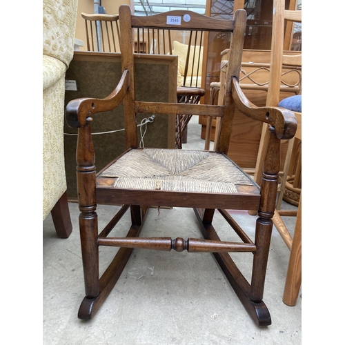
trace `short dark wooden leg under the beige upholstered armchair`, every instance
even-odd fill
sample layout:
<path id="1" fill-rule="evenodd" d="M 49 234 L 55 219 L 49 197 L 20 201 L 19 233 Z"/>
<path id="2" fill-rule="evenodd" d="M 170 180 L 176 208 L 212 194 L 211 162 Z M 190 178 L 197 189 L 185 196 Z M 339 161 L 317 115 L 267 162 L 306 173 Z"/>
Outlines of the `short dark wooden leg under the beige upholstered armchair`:
<path id="1" fill-rule="evenodd" d="M 72 233 L 72 221 L 70 220 L 67 192 L 61 195 L 60 199 L 52 208 L 51 215 L 57 235 L 60 238 L 68 238 Z"/>

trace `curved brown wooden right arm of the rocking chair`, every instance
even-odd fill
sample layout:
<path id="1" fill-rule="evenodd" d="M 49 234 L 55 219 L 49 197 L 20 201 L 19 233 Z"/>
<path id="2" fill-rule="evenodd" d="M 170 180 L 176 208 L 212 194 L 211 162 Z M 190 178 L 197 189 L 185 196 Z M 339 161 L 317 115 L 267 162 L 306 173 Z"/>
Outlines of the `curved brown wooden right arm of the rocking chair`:
<path id="1" fill-rule="evenodd" d="M 293 138 L 297 130 L 297 119 L 292 111 L 279 107 L 257 107 L 244 95 L 236 77 L 232 78 L 231 83 L 233 99 L 240 112 L 273 126 L 279 139 Z"/>

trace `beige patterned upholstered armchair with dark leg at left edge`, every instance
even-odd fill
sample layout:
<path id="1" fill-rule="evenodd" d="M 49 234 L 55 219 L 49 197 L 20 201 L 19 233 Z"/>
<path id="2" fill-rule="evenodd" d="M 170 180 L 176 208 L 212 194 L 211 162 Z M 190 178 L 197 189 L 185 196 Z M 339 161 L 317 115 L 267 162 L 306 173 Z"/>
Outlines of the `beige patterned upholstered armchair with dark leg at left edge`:
<path id="1" fill-rule="evenodd" d="M 63 155 L 65 72 L 73 57 L 77 0 L 43 0 L 43 220 L 72 231 Z"/>

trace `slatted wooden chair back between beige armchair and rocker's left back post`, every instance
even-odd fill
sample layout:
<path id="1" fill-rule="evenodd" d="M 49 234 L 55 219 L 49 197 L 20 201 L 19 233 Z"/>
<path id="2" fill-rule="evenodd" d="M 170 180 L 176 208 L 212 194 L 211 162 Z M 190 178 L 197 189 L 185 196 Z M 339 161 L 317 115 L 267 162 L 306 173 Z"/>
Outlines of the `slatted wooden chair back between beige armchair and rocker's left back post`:
<path id="1" fill-rule="evenodd" d="M 89 52 L 119 52 L 119 15 L 86 14 L 86 43 Z"/>

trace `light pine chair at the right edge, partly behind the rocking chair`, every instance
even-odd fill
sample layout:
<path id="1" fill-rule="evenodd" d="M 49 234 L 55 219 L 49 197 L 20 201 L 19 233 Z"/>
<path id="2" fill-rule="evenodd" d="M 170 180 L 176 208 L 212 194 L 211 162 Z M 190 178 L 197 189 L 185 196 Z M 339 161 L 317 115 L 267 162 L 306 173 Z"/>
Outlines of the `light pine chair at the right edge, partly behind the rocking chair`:
<path id="1" fill-rule="evenodd" d="M 290 22 L 302 22 L 302 11 L 301 10 L 285 10 L 284 0 L 274 0 L 273 1 L 273 36 L 272 36 L 272 46 L 271 46 L 271 58 L 270 58 L 270 79 L 268 83 L 268 95 L 267 95 L 267 106 L 283 106 L 283 101 L 280 97 L 281 91 L 281 76 L 283 66 L 295 66 L 296 68 L 302 68 L 302 53 L 298 55 L 286 55 L 284 53 L 284 24 L 285 21 Z M 302 92 L 301 92 L 302 93 Z M 299 105 L 300 106 L 300 105 Z M 289 110 L 294 110 L 294 107 L 289 107 Z M 295 170 L 296 181 L 300 181 L 301 177 L 301 152 L 297 156 L 293 156 L 293 148 L 295 140 L 302 140 L 302 112 L 294 111 L 295 117 L 298 122 L 298 129 L 296 135 L 293 139 L 289 141 L 288 152 L 286 155 L 284 170 L 282 172 L 282 182 L 280 187 L 280 192 L 277 199 L 277 205 L 275 210 L 275 215 L 273 216 L 273 223 L 277 228 L 278 232 L 284 239 L 288 248 L 291 250 L 290 261 L 288 264 L 288 276 L 286 277 L 286 286 L 284 288 L 283 301 L 289 306 L 295 306 L 297 302 L 297 297 L 299 293 L 299 288 L 302 282 L 302 211 L 301 203 L 299 200 L 299 210 L 296 211 L 284 211 L 280 210 L 282 199 L 284 195 L 284 189 L 286 186 L 286 181 L 288 179 L 288 171 L 294 164 L 297 165 Z M 262 128 L 262 137 L 259 145 L 259 152 L 257 157 L 257 164 L 255 167 L 255 181 L 260 183 L 262 175 L 262 167 L 264 164 L 264 157 L 266 152 L 268 152 L 268 141 L 269 141 L 269 131 L 266 124 Z M 296 146 L 295 146 L 296 147 Z M 296 164 L 297 162 L 297 164 Z M 290 172 L 291 174 L 291 172 Z M 291 237 L 290 233 L 284 224 L 282 216 L 297 216 L 297 224 L 295 228 L 295 234 Z"/>

